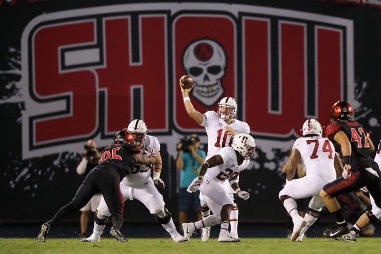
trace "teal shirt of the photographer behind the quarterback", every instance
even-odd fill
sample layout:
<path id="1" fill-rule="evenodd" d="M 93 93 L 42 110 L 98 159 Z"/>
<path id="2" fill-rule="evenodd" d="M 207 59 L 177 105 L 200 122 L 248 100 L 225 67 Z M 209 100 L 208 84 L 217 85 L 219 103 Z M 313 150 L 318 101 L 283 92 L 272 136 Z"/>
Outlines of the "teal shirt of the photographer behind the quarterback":
<path id="1" fill-rule="evenodd" d="M 204 150 L 198 149 L 197 154 L 205 159 L 206 153 Z M 200 163 L 191 154 L 191 152 L 184 152 L 182 154 L 184 168 L 180 171 L 180 188 L 188 188 L 194 178 L 198 176 L 197 170 L 200 167 Z"/>

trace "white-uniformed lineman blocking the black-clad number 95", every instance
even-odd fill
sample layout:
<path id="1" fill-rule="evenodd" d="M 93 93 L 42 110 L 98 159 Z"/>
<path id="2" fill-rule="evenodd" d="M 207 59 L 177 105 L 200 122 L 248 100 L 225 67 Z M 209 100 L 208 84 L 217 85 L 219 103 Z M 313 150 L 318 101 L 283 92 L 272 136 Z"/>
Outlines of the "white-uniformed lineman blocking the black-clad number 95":
<path id="1" fill-rule="evenodd" d="M 143 150 L 146 147 L 152 147 L 156 151 L 156 162 L 153 164 L 153 179 L 151 179 L 151 164 L 136 164 L 132 172 L 123 178 L 120 183 L 123 201 L 127 199 L 139 200 L 162 224 L 175 243 L 188 242 L 188 239 L 185 239 L 177 232 L 172 215 L 165 206 L 163 196 L 155 187 L 156 184 L 165 188 L 163 180 L 160 179 L 162 159 L 159 140 L 154 136 L 147 135 L 147 126 L 139 119 L 133 120 L 128 125 L 127 130 L 133 135 L 133 144 Z M 93 234 L 88 238 L 84 238 L 82 242 L 99 242 L 109 216 L 111 216 L 111 213 L 105 199 L 102 197 L 94 221 Z"/>

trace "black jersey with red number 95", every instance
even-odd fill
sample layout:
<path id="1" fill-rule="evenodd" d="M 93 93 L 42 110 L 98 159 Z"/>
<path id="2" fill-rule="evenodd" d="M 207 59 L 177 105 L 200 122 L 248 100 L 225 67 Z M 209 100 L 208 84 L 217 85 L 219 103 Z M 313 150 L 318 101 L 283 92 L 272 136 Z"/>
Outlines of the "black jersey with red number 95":
<path id="1" fill-rule="evenodd" d="M 122 181 L 135 167 L 136 160 L 133 157 L 134 153 L 140 153 L 140 148 L 136 145 L 123 143 L 108 146 L 102 151 L 101 164 L 99 166 L 116 169 Z"/>

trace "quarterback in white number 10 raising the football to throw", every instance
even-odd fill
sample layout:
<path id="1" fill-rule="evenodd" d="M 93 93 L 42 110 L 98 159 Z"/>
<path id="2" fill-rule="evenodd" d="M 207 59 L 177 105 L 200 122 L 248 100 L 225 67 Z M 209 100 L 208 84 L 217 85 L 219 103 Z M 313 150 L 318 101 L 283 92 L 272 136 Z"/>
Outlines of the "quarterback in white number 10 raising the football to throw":
<path id="1" fill-rule="evenodd" d="M 183 94 L 184 106 L 188 115 L 199 125 L 205 127 L 208 136 L 208 151 L 206 160 L 215 155 L 222 147 L 230 146 L 236 133 L 250 133 L 250 127 L 247 123 L 234 119 L 237 113 L 237 102 L 232 97 L 222 98 L 218 104 L 218 111 L 207 111 L 201 114 L 194 109 L 189 98 L 190 89 L 184 89 L 180 83 L 180 89 Z M 226 181 L 224 188 L 230 193 L 234 200 L 230 214 L 230 233 L 238 237 L 238 205 L 236 203 L 236 193 Z M 205 202 L 203 195 L 200 194 L 200 210 L 202 217 L 209 216 L 210 209 Z M 209 239 L 210 227 L 202 229 L 201 240 Z"/>

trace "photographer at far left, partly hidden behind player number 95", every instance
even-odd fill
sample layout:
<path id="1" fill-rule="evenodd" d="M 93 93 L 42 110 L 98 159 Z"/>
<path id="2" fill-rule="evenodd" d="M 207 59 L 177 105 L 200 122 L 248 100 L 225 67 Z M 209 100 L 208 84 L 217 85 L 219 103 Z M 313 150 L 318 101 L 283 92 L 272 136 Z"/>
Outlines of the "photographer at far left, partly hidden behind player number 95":
<path id="1" fill-rule="evenodd" d="M 89 139 L 87 143 L 84 145 L 83 158 L 77 166 L 77 173 L 81 176 L 81 181 L 85 179 L 90 170 L 92 170 L 95 166 L 99 165 L 100 159 L 101 155 L 99 154 L 97 144 L 94 140 Z M 90 201 L 80 209 L 81 237 L 83 237 L 86 234 L 87 224 L 89 221 L 89 213 L 90 211 L 92 211 L 93 213 L 96 212 L 99 206 L 99 202 L 101 201 L 101 197 L 101 193 L 95 194 L 90 199 Z"/>

